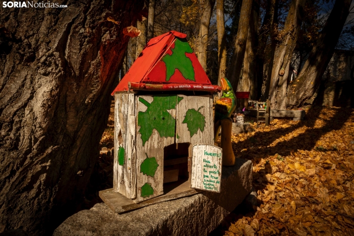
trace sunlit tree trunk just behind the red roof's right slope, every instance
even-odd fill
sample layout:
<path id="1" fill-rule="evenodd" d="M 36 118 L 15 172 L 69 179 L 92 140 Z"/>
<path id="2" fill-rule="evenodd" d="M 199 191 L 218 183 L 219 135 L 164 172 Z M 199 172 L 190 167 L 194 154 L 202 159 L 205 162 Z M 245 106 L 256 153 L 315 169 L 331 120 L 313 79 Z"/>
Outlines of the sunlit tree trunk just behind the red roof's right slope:
<path id="1" fill-rule="evenodd" d="M 209 25 L 215 0 L 201 0 L 201 18 L 197 44 L 197 57 L 203 69 L 207 70 L 207 47 L 209 43 Z"/>

